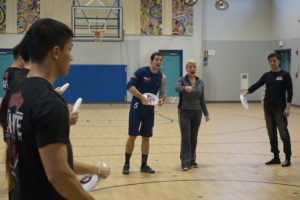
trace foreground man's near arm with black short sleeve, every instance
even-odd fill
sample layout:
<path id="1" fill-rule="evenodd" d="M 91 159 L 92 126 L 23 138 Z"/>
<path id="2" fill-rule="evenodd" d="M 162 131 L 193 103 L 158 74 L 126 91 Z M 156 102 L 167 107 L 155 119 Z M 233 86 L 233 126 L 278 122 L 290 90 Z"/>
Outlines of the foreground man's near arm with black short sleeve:
<path id="1" fill-rule="evenodd" d="M 71 169 L 67 105 L 48 93 L 32 106 L 35 139 L 48 181 L 66 199 L 94 199 L 83 190 Z M 44 98 L 47 97 L 47 98 Z"/>

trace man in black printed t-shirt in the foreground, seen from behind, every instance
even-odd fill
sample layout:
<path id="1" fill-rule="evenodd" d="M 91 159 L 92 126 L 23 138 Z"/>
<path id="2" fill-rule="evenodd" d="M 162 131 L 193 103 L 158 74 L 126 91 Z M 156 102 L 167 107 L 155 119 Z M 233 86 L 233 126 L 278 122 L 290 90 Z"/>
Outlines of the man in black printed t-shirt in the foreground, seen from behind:
<path id="1" fill-rule="evenodd" d="M 3 126 L 10 171 L 16 180 L 12 200 L 94 199 L 83 190 L 76 174 L 107 176 L 102 167 L 73 163 L 69 111 L 53 90 L 56 77 L 68 73 L 72 36 L 66 25 L 41 19 L 21 42 L 31 69 L 9 92 L 7 125 Z"/>

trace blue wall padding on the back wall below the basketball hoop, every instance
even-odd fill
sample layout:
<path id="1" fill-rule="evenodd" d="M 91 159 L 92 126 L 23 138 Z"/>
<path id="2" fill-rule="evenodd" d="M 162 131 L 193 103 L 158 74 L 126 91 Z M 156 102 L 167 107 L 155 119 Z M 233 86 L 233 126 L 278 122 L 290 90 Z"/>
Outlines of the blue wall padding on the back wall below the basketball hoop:
<path id="1" fill-rule="evenodd" d="M 127 65 L 71 65 L 66 77 L 54 87 L 70 83 L 63 93 L 67 102 L 83 98 L 84 103 L 126 102 Z"/>

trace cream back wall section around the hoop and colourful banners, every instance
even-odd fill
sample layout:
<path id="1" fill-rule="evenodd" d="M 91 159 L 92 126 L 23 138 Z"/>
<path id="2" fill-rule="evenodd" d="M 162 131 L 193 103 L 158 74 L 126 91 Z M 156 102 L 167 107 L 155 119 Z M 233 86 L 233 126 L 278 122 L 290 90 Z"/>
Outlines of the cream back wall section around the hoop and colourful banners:
<path id="1" fill-rule="evenodd" d="M 13 1 L 16 0 L 12 0 L 10 2 L 11 5 Z M 70 2 L 70 0 L 41 0 L 41 16 L 54 17 L 71 26 Z M 165 21 L 170 21 L 171 19 L 171 0 L 163 1 L 164 5 L 169 5 L 165 6 L 163 10 L 165 16 L 163 19 L 163 36 L 140 36 L 140 0 L 121 2 L 124 9 L 126 34 L 124 42 L 74 42 L 72 51 L 74 64 L 125 64 L 128 66 L 127 79 L 129 79 L 138 67 L 149 65 L 151 53 L 158 50 L 181 49 L 184 52 L 184 62 L 192 58 L 201 63 L 203 55 L 201 50 L 202 1 L 199 1 L 194 9 L 194 35 L 184 37 L 170 36 L 171 25 L 168 26 L 165 23 Z M 15 25 L 10 25 L 10 27 L 13 26 Z M 11 30 L 10 32 L 15 33 L 16 30 Z M 0 35 L 0 43 L 3 46 L 1 48 L 12 48 L 21 38 L 22 35 L 19 34 Z M 202 68 L 200 65 L 199 73 L 201 74 L 201 72 Z M 131 100 L 129 94 L 128 99 Z"/>

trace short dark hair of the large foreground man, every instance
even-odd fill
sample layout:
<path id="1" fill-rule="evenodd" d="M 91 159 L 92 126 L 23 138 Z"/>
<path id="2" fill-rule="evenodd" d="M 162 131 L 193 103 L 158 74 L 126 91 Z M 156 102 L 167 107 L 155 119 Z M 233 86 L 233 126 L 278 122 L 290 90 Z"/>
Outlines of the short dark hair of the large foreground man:
<path id="1" fill-rule="evenodd" d="M 72 30 L 67 25 L 54 19 L 40 19 L 26 32 L 22 40 L 23 53 L 28 54 L 32 62 L 40 63 L 53 47 L 64 48 L 72 37 Z"/>

